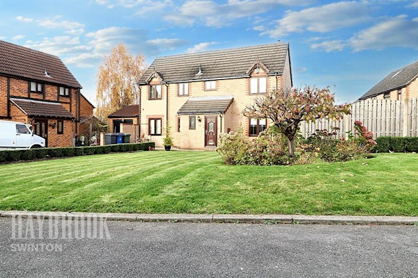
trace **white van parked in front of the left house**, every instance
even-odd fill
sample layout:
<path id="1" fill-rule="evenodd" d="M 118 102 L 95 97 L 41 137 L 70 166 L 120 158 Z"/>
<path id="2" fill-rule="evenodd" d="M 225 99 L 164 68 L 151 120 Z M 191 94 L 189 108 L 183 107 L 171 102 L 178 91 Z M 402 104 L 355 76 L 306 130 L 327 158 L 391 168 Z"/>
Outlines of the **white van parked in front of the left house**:
<path id="1" fill-rule="evenodd" d="M 0 120 L 0 148 L 45 147 L 45 139 L 33 134 L 30 124 Z"/>

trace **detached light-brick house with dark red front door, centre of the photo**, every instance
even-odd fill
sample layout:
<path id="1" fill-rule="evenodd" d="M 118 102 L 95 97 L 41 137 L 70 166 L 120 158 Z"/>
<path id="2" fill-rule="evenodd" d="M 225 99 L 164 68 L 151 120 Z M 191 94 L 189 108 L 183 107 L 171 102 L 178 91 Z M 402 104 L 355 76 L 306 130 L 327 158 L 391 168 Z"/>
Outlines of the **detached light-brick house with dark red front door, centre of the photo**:
<path id="1" fill-rule="evenodd" d="M 266 92 L 291 88 L 289 44 L 256 45 L 156 58 L 139 81 L 140 133 L 162 146 L 166 123 L 176 147 L 217 146 L 220 133 L 242 126 L 258 136 L 268 120 L 242 115 Z"/>

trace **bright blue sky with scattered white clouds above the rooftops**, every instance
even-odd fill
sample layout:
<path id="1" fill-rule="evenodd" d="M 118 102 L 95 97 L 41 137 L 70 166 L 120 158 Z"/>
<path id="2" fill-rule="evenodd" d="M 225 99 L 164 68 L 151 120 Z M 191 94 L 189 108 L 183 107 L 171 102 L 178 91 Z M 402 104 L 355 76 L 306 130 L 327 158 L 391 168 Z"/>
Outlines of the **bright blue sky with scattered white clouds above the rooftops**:
<path id="1" fill-rule="evenodd" d="M 294 85 L 355 101 L 418 59 L 418 1 L 0 0 L 0 40 L 59 56 L 95 103 L 104 55 L 156 56 L 291 44 Z"/>

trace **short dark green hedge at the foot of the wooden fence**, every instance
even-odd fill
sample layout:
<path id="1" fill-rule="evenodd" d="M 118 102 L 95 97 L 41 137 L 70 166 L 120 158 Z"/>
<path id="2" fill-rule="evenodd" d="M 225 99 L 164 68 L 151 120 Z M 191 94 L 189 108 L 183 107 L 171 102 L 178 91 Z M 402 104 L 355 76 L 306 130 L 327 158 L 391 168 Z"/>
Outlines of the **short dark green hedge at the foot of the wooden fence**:
<path id="1" fill-rule="evenodd" d="M 418 152 L 418 137 L 379 137 L 375 152 Z"/>

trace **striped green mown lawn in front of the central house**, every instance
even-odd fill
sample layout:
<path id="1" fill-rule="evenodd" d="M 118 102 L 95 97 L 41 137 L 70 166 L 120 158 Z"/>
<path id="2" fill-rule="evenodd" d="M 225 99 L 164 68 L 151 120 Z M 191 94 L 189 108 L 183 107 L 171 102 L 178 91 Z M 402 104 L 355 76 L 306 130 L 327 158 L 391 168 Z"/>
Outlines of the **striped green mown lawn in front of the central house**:
<path id="1" fill-rule="evenodd" d="M 0 209 L 418 215 L 418 155 L 291 167 L 216 152 L 135 152 L 0 165 Z"/>

